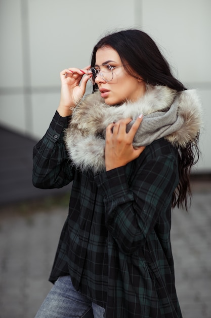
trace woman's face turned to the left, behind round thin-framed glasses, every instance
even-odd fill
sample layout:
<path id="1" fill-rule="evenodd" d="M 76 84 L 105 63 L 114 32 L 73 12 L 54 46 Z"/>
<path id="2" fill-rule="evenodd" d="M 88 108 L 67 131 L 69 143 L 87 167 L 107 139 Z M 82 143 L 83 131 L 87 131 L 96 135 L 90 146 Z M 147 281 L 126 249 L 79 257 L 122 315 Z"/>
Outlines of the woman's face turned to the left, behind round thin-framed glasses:
<path id="1" fill-rule="evenodd" d="M 117 67 L 121 66 L 122 62 L 116 50 L 110 46 L 105 46 L 96 52 L 95 67 L 97 68 L 102 64 Z M 106 82 L 100 75 L 96 77 L 95 82 L 107 105 L 122 104 L 126 100 L 134 102 L 143 96 L 146 91 L 145 82 L 129 75 L 124 67 L 113 70 L 113 79 L 110 82 Z"/>

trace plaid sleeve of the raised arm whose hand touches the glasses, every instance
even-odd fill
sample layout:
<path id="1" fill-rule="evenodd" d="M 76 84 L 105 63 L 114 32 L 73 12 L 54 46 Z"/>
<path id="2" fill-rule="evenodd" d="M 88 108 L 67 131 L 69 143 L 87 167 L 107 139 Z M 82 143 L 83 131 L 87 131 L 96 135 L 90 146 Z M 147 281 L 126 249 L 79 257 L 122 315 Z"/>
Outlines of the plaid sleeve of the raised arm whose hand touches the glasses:
<path id="1" fill-rule="evenodd" d="M 72 181 L 73 169 L 63 141 L 69 119 L 56 111 L 45 136 L 34 146 L 32 182 L 35 187 L 60 188 Z"/>

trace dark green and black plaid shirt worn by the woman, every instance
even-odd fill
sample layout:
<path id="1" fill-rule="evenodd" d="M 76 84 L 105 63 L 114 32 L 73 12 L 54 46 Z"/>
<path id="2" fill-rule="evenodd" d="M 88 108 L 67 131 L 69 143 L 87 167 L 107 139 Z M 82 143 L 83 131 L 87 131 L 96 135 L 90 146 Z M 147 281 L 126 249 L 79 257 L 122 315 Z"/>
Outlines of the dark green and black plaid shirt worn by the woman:
<path id="1" fill-rule="evenodd" d="M 73 180 L 50 281 L 70 275 L 107 318 L 181 318 L 170 242 L 177 150 L 159 139 L 125 167 L 81 173 L 67 158 L 67 122 L 56 112 L 33 150 L 36 187 Z"/>

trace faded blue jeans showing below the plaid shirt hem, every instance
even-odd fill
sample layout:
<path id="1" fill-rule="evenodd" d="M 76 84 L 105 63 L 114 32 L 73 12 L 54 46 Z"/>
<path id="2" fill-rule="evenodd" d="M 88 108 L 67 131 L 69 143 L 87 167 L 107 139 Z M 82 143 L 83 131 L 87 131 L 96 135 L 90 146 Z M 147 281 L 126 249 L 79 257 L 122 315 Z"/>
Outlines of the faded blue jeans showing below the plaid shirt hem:
<path id="1" fill-rule="evenodd" d="M 73 288 L 70 276 L 61 276 L 35 318 L 103 318 L 104 312 L 104 308 Z"/>

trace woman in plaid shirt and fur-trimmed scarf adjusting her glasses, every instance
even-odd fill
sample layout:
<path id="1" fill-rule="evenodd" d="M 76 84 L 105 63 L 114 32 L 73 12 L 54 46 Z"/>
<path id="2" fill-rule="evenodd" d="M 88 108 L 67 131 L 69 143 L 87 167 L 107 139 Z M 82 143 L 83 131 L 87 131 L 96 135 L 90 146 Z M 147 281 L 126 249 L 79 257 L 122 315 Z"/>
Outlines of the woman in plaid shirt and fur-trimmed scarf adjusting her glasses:
<path id="1" fill-rule="evenodd" d="M 187 208 L 198 156 L 195 91 L 136 29 L 106 36 L 91 66 L 60 76 L 59 107 L 34 147 L 33 184 L 73 185 L 54 287 L 36 317 L 182 317 L 171 208 Z M 89 80 L 94 93 L 83 99 Z"/>

